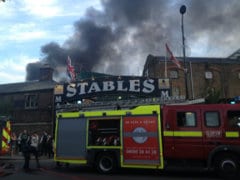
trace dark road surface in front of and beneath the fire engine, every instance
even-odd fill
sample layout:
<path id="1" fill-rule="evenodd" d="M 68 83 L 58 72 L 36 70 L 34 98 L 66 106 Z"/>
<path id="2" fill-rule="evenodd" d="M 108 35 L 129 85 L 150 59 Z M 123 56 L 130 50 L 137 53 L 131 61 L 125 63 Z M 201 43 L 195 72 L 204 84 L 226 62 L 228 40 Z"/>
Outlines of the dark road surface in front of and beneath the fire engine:
<path id="1" fill-rule="evenodd" d="M 187 171 L 187 170 L 169 170 L 169 171 L 155 171 L 155 170 L 142 170 L 142 169 L 119 169 L 116 173 L 111 175 L 102 175 L 97 173 L 93 168 L 83 167 L 79 165 L 70 165 L 69 167 L 62 166 L 56 168 L 55 162 L 52 159 L 44 157 L 40 158 L 41 168 L 36 168 L 35 160 L 32 159 L 30 162 L 31 171 L 25 172 L 22 169 L 23 159 L 4 159 L 0 158 L 0 164 L 9 165 L 5 168 L 5 173 L 1 174 L 0 177 L 4 180 L 94 180 L 94 179 L 116 179 L 116 180 L 185 180 L 185 179 L 196 179 L 196 180 L 216 180 L 217 178 L 208 172 L 204 171 Z"/>

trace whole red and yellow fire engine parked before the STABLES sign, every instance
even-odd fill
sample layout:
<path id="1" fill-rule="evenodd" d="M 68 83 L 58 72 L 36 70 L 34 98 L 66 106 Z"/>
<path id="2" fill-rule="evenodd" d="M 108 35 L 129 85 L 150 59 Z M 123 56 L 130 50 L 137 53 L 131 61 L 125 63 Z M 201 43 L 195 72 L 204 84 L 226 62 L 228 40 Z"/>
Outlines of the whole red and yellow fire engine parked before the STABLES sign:
<path id="1" fill-rule="evenodd" d="M 196 166 L 240 173 L 240 104 L 134 105 L 60 109 L 55 161 L 117 168 Z"/>

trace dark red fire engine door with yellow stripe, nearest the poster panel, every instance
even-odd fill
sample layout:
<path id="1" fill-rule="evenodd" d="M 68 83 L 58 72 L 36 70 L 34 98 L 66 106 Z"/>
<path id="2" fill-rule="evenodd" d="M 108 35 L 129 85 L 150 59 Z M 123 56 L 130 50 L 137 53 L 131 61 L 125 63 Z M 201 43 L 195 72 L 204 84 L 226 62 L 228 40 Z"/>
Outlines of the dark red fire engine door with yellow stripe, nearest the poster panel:
<path id="1" fill-rule="evenodd" d="M 203 133 L 200 110 L 175 111 L 173 147 L 175 158 L 198 159 L 203 157 Z"/>

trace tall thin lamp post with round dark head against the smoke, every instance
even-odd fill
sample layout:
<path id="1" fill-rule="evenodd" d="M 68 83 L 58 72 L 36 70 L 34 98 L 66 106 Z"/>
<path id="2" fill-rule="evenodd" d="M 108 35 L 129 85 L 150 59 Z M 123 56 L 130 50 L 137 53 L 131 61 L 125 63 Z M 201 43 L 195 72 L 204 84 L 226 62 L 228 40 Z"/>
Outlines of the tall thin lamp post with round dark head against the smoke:
<path id="1" fill-rule="evenodd" d="M 184 37 L 184 26 L 183 26 L 183 15 L 186 12 L 186 6 L 182 5 L 180 8 L 180 13 L 182 14 L 182 45 L 183 45 L 183 63 L 184 63 L 184 79 L 185 79 L 185 91 L 186 91 L 186 100 L 189 99 L 189 95 L 188 95 L 188 79 L 187 79 L 187 66 L 186 66 L 186 55 L 185 55 L 185 37 Z"/>

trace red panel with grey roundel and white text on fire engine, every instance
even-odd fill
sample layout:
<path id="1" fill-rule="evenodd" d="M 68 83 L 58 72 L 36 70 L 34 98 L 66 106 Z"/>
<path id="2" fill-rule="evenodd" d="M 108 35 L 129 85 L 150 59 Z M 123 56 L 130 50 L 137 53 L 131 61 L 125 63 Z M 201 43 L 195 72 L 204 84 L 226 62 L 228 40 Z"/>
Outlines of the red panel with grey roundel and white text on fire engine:
<path id="1" fill-rule="evenodd" d="M 157 116 L 131 116 L 123 119 L 124 164 L 160 163 Z"/>

